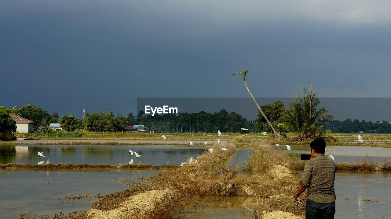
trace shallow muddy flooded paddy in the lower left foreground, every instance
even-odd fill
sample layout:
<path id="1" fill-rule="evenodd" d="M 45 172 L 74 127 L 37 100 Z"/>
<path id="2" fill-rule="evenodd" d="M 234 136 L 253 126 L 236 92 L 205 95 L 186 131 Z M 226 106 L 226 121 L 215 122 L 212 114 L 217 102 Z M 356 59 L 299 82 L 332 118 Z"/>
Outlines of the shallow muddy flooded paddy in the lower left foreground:
<path id="1" fill-rule="evenodd" d="M 149 177 L 156 170 L 113 171 L 11 171 L 0 170 L 1 218 L 18 218 L 20 214 L 64 214 L 90 209 L 97 195 L 129 188 L 120 180 L 139 183 L 138 177 Z M 117 180 L 113 180 L 117 179 Z M 64 200 L 68 196 L 84 199 Z"/>

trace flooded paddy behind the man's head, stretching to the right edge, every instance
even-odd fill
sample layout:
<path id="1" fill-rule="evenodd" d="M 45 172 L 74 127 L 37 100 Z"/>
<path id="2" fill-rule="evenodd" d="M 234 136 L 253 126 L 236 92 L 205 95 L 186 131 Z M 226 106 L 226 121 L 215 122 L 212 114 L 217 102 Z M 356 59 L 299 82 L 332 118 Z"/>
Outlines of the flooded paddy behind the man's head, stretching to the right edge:
<path id="1" fill-rule="evenodd" d="M 310 154 L 310 147 L 308 145 L 291 145 L 292 150 L 286 150 L 285 145 L 278 147 L 274 146 L 274 149 L 291 154 L 293 156 L 300 157 L 300 154 Z M 364 156 L 368 156 L 373 159 L 391 159 L 390 148 L 379 147 L 365 147 L 365 146 L 326 146 L 330 148 L 326 151 L 325 155 L 333 155 L 335 163 L 342 164 L 344 160 L 348 160 L 355 164 L 355 161 L 361 159 Z"/>

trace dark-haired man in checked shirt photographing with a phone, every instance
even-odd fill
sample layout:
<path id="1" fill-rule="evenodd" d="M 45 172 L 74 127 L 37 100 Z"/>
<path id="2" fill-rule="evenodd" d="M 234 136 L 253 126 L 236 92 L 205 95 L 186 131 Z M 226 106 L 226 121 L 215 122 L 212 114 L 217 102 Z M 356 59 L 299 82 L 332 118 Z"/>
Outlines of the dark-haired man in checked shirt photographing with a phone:
<path id="1" fill-rule="evenodd" d="M 335 164 L 325 156 L 326 142 L 317 139 L 310 143 L 311 159 L 305 163 L 303 175 L 294 200 L 308 189 L 305 219 L 333 219 L 335 214 Z"/>

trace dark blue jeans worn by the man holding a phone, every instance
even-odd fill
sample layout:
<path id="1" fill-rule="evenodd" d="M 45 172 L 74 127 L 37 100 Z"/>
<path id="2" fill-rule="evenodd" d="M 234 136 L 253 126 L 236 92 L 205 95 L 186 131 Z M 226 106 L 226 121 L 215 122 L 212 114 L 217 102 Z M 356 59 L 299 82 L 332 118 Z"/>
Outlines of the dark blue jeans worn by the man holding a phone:
<path id="1" fill-rule="evenodd" d="M 334 219 L 335 202 L 317 203 L 307 199 L 305 219 Z"/>

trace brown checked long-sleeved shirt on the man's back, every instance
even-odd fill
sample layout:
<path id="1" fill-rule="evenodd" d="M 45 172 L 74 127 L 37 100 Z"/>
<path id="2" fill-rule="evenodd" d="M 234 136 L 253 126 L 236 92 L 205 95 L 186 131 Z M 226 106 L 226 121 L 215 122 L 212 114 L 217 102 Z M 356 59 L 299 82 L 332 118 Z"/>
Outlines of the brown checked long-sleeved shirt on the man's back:
<path id="1" fill-rule="evenodd" d="M 335 164 L 324 154 L 318 154 L 305 164 L 300 184 L 308 189 L 308 199 L 317 203 L 335 201 Z"/>

